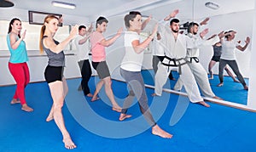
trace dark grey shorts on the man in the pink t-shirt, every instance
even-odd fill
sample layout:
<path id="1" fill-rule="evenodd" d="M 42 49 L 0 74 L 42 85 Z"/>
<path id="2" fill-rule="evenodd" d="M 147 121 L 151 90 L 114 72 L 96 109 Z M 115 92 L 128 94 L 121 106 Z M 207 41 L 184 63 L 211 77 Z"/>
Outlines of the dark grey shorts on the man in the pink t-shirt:
<path id="1" fill-rule="evenodd" d="M 101 79 L 110 76 L 106 61 L 92 62 L 92 67 L 97 71 L 97 74 Z"/>

